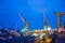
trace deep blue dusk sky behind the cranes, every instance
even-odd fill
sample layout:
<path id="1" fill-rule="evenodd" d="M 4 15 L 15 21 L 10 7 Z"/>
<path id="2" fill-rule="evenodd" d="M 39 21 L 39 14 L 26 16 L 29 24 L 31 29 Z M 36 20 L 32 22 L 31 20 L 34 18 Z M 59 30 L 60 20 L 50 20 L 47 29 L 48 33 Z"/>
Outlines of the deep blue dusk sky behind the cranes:
<path id="1" fill-rule="evenodd" d="M 17 15 L 17 11 L 28 20 L 28 29 L 42 29 L 43 12 L 41 8 L 44 8 L 46 16 L 48 17 L 48 25 L 51 28 L 55 28 L 56 18 L 53 13 L 65 13 L 64 0 L 0 0 L 0 27 L 2 28 L 24 28 L 24 23 Z M 63 16 L 63 22 L 64 20 Z"/>

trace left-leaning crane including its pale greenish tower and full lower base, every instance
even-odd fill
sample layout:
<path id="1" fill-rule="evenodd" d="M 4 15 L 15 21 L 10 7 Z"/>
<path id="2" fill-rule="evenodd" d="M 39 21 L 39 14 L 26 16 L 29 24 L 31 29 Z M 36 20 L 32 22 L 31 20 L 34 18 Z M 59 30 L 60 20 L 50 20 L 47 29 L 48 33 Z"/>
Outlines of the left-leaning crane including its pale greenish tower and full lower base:
<path id="1" fill-rule="evenodd" d="M 17 13 L 18 13 L 20 18 L 24 23 L 24 29 L 22 29 L 22 33 L 24 35 L 28 35 L 28 22 L 27 22 L 27 19 L 24 18 L 24 16 L 20 12 L 17 12 Z"/>

